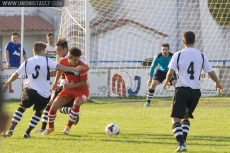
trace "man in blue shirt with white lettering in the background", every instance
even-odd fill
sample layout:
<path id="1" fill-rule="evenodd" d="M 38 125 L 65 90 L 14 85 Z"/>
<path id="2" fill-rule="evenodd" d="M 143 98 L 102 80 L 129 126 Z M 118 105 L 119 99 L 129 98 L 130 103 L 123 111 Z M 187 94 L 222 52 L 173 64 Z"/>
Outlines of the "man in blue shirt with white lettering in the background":
<path id="1" fill-rule="evenodd" d="M 11 41 L 6 45 L 5 57 L 6 66 L 5 68 L 18 68 L 20 66 L 21 57 L 21 44 L 18 43 L 19 36 L 17 32 L 11 34 Z M 23 57 L 27 60 L 26 52 L 23 49 Z"/>

